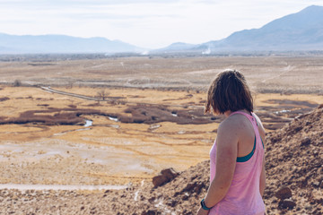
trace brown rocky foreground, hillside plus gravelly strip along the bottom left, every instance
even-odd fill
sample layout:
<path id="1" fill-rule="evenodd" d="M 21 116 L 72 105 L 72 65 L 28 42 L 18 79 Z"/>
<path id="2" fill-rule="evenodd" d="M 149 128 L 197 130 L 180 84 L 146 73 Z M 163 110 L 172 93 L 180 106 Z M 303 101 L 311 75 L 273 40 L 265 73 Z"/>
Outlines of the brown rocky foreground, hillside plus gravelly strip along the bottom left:
<path id="1" fill-rule="evenodd" d="M 266 137 L 267 214 L 322 214 L 323 106 Z M 120 191 L 0 190 L 1 214 L 195 214 L 209 185 L 209 161 L 169 183 Z"/>

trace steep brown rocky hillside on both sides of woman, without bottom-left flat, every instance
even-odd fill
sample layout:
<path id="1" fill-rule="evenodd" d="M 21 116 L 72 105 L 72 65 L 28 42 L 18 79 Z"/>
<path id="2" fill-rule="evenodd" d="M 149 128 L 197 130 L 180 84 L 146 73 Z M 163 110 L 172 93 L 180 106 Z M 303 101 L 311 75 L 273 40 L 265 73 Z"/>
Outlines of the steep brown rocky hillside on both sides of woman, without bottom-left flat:
<path id="1" fill-rule="evenodd" d="M 267 214 L 323 212 L 322 126 L 323 107 L 320 107 L 295 118 L 283 129 L 267 134 L 264 195 Z M 195 214 L 209 185 L 208 168 L 207 160 L 182 172 L 166 185 L 135 188 L 138 202 L 135 213 Z M 286 190 L 290 193 L 281 196 Z M 131 193 L 125 195 L 132 196 Z"/>

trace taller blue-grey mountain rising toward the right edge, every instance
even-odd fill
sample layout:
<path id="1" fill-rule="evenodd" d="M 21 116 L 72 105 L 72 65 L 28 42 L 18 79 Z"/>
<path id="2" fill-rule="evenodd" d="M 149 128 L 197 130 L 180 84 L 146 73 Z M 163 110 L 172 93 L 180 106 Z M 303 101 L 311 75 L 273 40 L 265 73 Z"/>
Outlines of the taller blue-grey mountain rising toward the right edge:
<path id="1" fill-rule="evenodd" d="M 227 51 L 301 51 L 323 50 L 323 6 L 312 5 L 260 29 L 241 30 L 228 38 L 191 45 L 186 51 L 210 54 Z M 170 46 L 171 47 L 171 46 Z M 164 52 L 181 52 L 179 48 L 162 48 Z"/>

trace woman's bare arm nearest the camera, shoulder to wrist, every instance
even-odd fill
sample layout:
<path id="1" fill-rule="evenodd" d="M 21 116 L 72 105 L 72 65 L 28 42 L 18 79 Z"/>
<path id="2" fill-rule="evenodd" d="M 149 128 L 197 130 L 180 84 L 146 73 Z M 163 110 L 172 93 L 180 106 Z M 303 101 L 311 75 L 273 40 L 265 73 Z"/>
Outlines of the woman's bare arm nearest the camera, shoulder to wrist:
<path id="1" fill-rule="evenodd" d="M 228 192 L 235 170 L 238 130 L 231 119 L 219 126 L 216 145 L 216 173 L 205 197 L 205 205 L 209 208 L 220 202 Z"/>

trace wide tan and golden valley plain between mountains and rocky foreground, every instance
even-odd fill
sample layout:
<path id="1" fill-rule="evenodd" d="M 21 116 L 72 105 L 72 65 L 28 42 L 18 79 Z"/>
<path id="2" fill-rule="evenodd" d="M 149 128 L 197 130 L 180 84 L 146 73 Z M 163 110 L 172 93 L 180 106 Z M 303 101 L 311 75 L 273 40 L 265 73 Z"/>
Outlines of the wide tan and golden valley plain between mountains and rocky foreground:
<path id="1" fill-rule="evenodd" d="M 228 68 L 268 133 L 323 104 L 323 56 L 2 59 L 1 188 L 124 189 L 209 159 L 206 90 Z"/>

